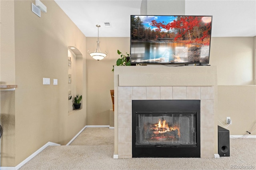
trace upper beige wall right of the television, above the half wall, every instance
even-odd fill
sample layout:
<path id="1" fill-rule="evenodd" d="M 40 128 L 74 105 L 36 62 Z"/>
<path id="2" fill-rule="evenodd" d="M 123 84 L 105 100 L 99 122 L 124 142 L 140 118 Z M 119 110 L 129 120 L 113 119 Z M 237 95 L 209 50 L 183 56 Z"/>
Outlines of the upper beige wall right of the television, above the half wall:
<path id="1" fill-rule="evenodd" d="M 218 85 L 254 84 L 254 38 L 214 37 L 210 65 L 218 66 Z"/>

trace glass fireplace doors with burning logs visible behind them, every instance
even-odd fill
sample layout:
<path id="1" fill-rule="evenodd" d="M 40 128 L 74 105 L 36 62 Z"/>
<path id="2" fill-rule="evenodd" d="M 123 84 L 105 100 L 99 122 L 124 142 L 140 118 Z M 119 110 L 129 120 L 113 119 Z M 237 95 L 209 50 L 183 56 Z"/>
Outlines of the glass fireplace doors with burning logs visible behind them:
<path id="1" fill-rule="evenodd" d="M 136 146 L 196 145 L 196 113 L 136 113 Z"/>

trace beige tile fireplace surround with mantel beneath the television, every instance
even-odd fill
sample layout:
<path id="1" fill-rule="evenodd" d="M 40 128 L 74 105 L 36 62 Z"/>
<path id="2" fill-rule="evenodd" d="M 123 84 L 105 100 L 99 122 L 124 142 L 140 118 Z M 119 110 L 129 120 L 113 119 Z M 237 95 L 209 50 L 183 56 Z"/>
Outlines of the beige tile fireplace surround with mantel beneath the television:
<path id="1" fill-rule="evenodd" d="M 200 100 L 200 157 L 218 153 L 217 67 L 114 67 L 114 158 L 132 158 L 132 100 Z"/>

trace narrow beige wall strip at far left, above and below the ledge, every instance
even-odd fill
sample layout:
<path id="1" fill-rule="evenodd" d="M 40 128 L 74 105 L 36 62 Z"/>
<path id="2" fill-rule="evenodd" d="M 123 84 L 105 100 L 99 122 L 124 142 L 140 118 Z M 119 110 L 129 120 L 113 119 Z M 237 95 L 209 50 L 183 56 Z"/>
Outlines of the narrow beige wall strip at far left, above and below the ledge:
<path id="1" fill-rule="evenodd" d="M 14 2 L 0 2 L 0 84 L 15 84 Z M 0 91 L 1 166 L 15 164 L 15 91 Z M 3 163 L 2 163 L 3 162 Z"/>

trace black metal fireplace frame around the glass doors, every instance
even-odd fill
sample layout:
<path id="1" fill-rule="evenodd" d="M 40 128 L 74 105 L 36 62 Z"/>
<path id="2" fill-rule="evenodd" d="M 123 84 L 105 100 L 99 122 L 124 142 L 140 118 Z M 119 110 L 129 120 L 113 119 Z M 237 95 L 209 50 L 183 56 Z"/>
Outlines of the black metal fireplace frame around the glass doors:
<path id="1" fill-rule="evenodd" d="M 196 113 L 196 145 L 136 145 L 136 114 Z M 132 100 L 132 157 L 200 158 L 200 100 Z"/>

